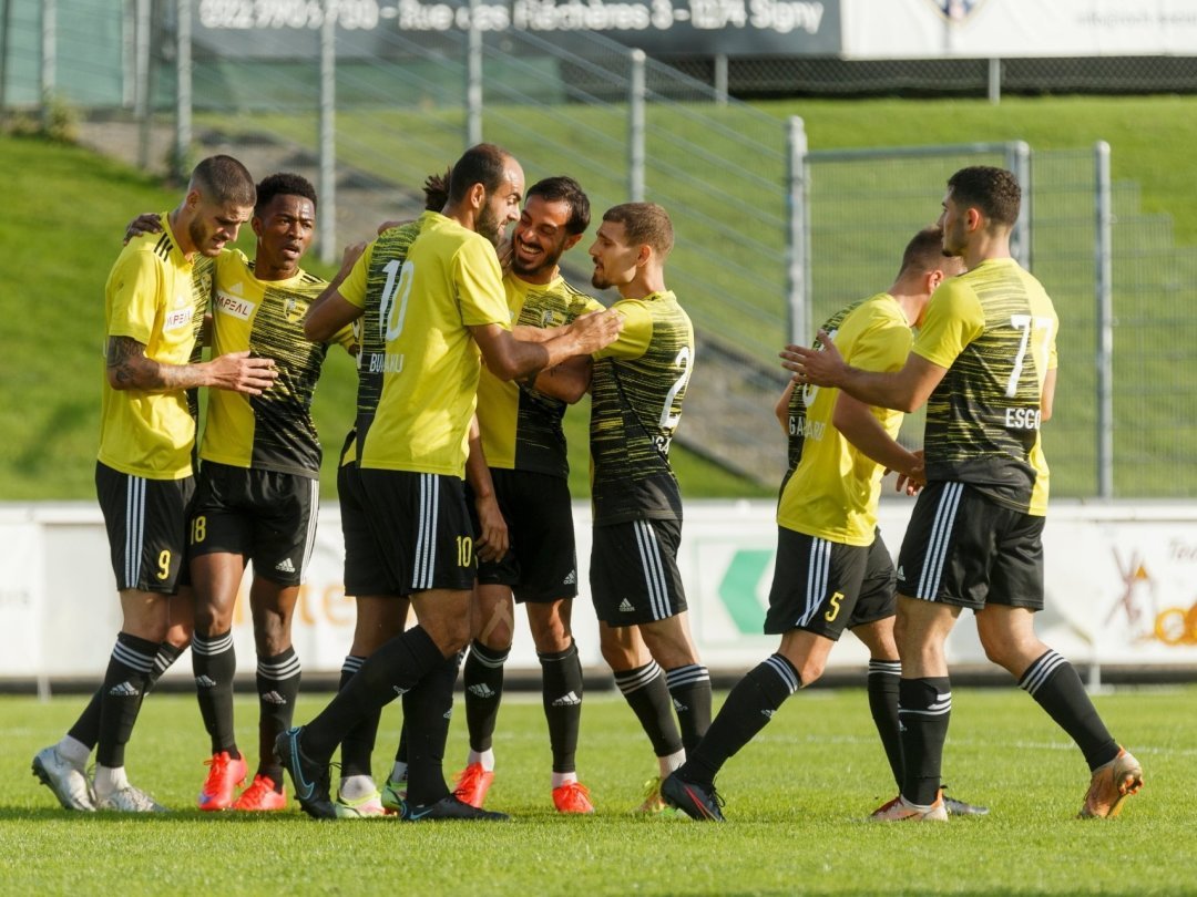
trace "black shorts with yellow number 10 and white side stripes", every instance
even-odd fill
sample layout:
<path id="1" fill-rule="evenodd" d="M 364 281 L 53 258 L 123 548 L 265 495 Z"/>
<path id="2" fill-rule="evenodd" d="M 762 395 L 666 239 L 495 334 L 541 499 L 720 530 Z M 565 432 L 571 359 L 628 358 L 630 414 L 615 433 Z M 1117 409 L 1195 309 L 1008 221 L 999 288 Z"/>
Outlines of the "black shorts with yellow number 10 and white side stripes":
<path id="1" fill-rule="evenodd" d="M 443 474 L 372 468 L 358 474 L 387 566 L 384 593 L 472 590 L 478 565 L 466 484 Z"/>

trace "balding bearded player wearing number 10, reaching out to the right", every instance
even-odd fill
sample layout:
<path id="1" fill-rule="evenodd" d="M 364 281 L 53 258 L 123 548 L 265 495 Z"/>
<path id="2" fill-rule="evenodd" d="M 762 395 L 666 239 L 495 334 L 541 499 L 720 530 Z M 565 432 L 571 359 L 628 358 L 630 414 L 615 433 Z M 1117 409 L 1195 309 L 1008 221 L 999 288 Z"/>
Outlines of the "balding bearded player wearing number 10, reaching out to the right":
<path id="1" fill-rule="evenodd" d="M 397 695 L 409 742 L 402 818 L 505 818 L 457 800 L 442 771 L 476 569 L 462 477 L 479 362 L 500 379 L 527 378 L 606 346 L 621 323 L 600 312 L 543 342 L 511 334 L 494 245 L 518 218 L 523 187 L 510 153 L 490 144 L 466 151 L 444 214 L 425 213 L 384 303 L 384 382 L 359 466 L 390 585 L 411 597 L 418 623 L 371 654 L 311 724 L 279 737 L 296 797 L 316 818 L 338 816 L 328 776 L 336 745 Z"/>

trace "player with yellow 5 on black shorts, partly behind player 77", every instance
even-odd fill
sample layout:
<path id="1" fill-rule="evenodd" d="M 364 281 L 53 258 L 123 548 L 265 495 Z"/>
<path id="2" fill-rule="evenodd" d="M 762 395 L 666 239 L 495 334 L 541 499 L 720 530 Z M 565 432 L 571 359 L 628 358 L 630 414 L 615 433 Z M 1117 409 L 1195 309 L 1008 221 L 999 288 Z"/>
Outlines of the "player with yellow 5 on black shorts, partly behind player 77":
<path id="1" fill-rule="evenodd" d="M 911 328 L 922 322 L 931 293 L 964 270 L 959 260 L 944 256 L 941 238 L 937 227 L 919 231 L 888 291 L 841 309 L 824 324 L 853 365 L 901 367 Z M 822 675 L 845 629 L 869 648 L 869 707 L 891 769 L 901 779 L 894 569 L 876 517 L 882 474 L 895 470 L 917 484 L 923 462 L 895 441 L 900 413 L 870 408 L 838 390 L 795 385 L 789 384 L 776 408 L 789 437 L 790 464 L 777 509 L 777 565 L 765 631 L 780 635 L 780 646 L 731 690 L 706 736 L 661 787 L 667 801 L 699 820 L 723 819 L 715 776 L 786 698 Z M 953 805 L 958 812 L 985 812 L 961 801 Z"/>

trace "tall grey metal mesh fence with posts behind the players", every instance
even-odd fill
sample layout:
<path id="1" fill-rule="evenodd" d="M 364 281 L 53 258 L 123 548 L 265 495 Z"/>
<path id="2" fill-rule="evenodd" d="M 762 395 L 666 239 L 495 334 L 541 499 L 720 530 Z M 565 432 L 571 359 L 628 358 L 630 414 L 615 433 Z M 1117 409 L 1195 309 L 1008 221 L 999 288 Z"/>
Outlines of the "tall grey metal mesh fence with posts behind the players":
<path id="1" fill-rule="evenodd" d="M 277 35 L 269 59 L 253 61 L 192 45 L 171 19 L 187 7 L 8 0 L 2 96 L 36 106 L 50 84 L 80 108 L 140 112 L 144 133 L 154 118 L 170 123 L 186 153 L 194 116 L 201 146 L 231 144 L 254 154 L 255 171 L 318 176 L 322 214 L 342 212 L 321 221 L 326 255 L 367 233 L 351 214 L 372 226 L 419 208 L 424 177 L 479 139 L 510 148 L 529 182 L 578 177 L 597 212 L 630 197 L 661 202 L 679 237 L 669 282 L 703 356 L 679 437 L 764 483 L 783 464 L 768 395 L 783 382 L 777 348 L 892 282 L 952 171 L 1014 167 L 1027 197 L 1017 251 L 1063 318 L 1045 431 L 1055 494 L 1197 495 L 1197 384 L 1181 374 L 1197 336 L 1185 312 L 1197 250 L 1173 245 L 1168 219 L 1144 214 L 1134 184 L 1105 191 L 1089 150 L 809 153 L 796 170 L 785 123 L 600 36 L 579 54 L 525 31 L 394 31 L 377 56 L 338 59 L 328 33 L 303 47 Z M 186 153 L 141 161 L 180 164 Z M 585 260 L 572 255 L 584 280 Z M 904 438 L 919 432 L 912 417 Z"/>

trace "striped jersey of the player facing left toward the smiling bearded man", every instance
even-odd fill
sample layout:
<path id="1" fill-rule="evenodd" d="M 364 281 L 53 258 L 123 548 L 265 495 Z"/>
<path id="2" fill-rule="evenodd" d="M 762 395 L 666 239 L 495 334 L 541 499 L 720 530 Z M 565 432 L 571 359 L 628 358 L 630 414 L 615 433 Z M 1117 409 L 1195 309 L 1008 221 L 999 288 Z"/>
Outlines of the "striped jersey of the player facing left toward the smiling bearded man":
<path id="1" fill-rule="evenodd" d="M 594 521 L 680 520 L 669 444 L 694 365 L 694 331 L 672 292 L 612 309 L 624 329 L 595 353 L 590 379 Z"/>

